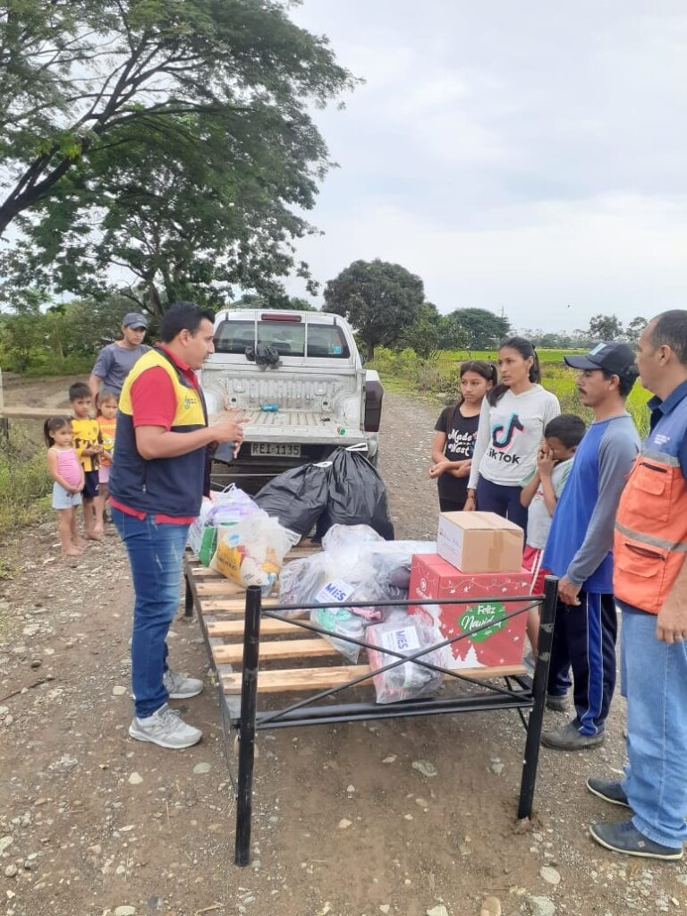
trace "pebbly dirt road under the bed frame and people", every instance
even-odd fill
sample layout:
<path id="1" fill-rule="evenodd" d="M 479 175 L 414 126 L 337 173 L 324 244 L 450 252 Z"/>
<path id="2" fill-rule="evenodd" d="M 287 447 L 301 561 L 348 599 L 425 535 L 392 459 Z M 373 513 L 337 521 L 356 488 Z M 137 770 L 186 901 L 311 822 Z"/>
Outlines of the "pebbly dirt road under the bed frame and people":
<path id="1" fill-rule="evenodd" d="M 385 401 L 380 466 L 399 537 L 434 533 L 435 414 Z M 212 689 L 186 704 L 204 730 L 198 747 L 129 739 L 125 553 L 112 529 L 73 565 L 57 547 L 48 518 L 4 548 L 15 568 L 0 583 L 6 916 L 473 916 L 487 893 L 504 916 L 687 911 L 687 867 L 621 859 L 585 834 L 590 821 L 622 817 L 584 790 L 588 775 L 623 765 L 619 697 L 604 747 L 542 749 L 537 817 L 524 831 L 515 713 L 261 733 L 254 861 L 234 868 Z M 170 649 L 179 670 L 205 670 L 195 623 L 175 623 Z M 421 760 L 437 775 L 415 769 Z"/>

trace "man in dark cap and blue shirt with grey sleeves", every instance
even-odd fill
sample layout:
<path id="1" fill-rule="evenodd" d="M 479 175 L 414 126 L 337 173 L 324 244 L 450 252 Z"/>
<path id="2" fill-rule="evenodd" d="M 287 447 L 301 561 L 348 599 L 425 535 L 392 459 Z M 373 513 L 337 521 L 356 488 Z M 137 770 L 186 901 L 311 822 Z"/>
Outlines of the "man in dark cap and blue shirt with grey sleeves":
<path id="1" fill-rule="evenodd" d="M 566 356 L 594 422 L 580 443 L 551 523 L 542 566 L 560 578 L 547 705 L 565 711 L 573 669 L 575 716 L 544 732 L 559 750 L 596 747 L 616 686 L 617 616 L 613 597 L 616 510 L 640 441 L 625 401 L 638 375 L 627 344 L 598 344 Z"/>

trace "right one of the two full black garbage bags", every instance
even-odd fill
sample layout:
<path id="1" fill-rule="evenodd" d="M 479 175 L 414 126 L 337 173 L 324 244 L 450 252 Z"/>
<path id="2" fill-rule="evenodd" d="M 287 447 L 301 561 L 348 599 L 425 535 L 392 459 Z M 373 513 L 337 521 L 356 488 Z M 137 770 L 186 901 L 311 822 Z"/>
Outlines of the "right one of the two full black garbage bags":
<path id="1" fill-rule="evenodd" d="M 356 446 L 331 456 L 326 511 L 317 526 L 322 538 L 333 525 L 369 525 L 385 540 L 394 540 L 388 514 L 387 488 L 376 469 Z"/>

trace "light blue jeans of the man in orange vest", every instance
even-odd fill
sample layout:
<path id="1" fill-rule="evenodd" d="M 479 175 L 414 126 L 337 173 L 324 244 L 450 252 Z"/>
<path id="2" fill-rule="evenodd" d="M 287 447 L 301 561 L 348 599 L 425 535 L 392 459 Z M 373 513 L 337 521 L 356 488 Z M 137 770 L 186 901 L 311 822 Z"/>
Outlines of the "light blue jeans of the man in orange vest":
<path id="1" fill-rule="evenodd" d="M 623 789 L 639 833 L 677 849 L 687 840 L 687 646 L 660 642 L 655 614 L 618 605 L 629 761 Z"/>

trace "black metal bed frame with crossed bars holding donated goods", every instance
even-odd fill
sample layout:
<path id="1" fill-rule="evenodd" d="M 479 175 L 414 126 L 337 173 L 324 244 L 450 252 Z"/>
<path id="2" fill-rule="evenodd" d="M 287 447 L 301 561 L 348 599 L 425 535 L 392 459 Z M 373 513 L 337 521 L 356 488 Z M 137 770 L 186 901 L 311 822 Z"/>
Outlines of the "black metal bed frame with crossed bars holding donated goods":
<path id="1" fill-rule="evenodd" d="M 443 639 L 441 642 L 430 647 L 424 647 L 414 652 L 402 653 L 391 649 L 380 650 L 378 647 L 366 642 L 365 639 L 355 639 L 340 633 L 332 634 L 322 627 L 311 623 L 310 620 L 286 616 L 289 612 L 295 610 L 307 611 L 318 608 L 321 605 L 278 605 L 275 602 L 267 604 L 263 601 L 260 589 L 257 586 L 251 586 L 245 593 L 245 623 L 242 627 L 243 649 L 241 652 L 242 669 L 240 675 L 239 699 L 237 690 L 234 694 L 228 694 L 226 692 L 225 687 L 227 682 L 231 680 L 235 687 L 238 675 L 227 675 L 221 671 L 223 666 L 218 662 L 218 658 L 221 658 L 221 651 L 217 646 L 218 640 L 213 638 L 212 624 L 210 627 L 208 626 L 205 615 L 202 613 L 202 596 L 199 596 L 197 592 L 193 574 L 195 568 L 196 567 L 188 562 L 185 566 L 185 615 L 190 616 L 193 607 L 196 608 L 202 629 L 202 636 L 206 648 L 208 649 L 209 658 L 213 664 L 215 685 L 217 687 L 217 696 L 222 714 L 224 736 L 228 742 L 231 729 L 234 729 L 238 737 L 238 774 L 235 782 L 232 779 L 236 795 L 234 862 L 237 866 L 248 865 L 250 861 L 256 732 L 268 728 L 286 728 L 301 725 L 329 725 L 333 723 L 355 722 L 368 719 L 515 709 L 518 711 L 527 732 L 522 776 L 520 780 L 518 819 L 529 818 L 531 816 L 537 780 L 537 767 L 539 763 L 541 725 L 544 715 L 544 705 L 546 703 L 546 682 L 551 659 L 551 641 L 553 638 L 553 626 L 556 614 L 558 580 L 555 577 L 546 577 L 544 594 L 541 595 L 498 595 L 492 598 L 481 597 L 479 599 L 480 603 L 498 601 L 504 605 L 524 604 L 524 606 L 518 607 L 517 610 L 507 614 L 507 618 L 526 614 L 531 607 L 541 606 L 540 646 L 533 678 L 527 676 L 523 666 L 505 666 L 503 668 L 485 669 L 485 672 L 482 673 L 481 676 L 477 676 L 478 672 L 474 670 L 470 670 L 470 674 L 468 674 L 461 669 L 445 669 L 441 666 L 432 664 L 430 661 L 423 660 L 423 656 L 431 654 L 436 649 L 441 649 L 444 646 L 452 646 L 453 643 L 461 639 L 468 638 L 486 627 L 493 626 L 491 622 L 480 627 L 474 627 L 468 633 L 460 633 L 457 636 Z M 409 599 L 404 602 L 376 602 L 376 606 L 419 606 L 436 605 L 437 603 L 436 599 L 424 601 Z M 442 605 L 471 605 L 474 603 L 474 597 L 442 598 L 441 600 Z M 341 605 L 332 604 L 331 606 L 353 608 L 368 605 L 369 602 L 348 602 Z M 333 686 L 328 686 L 326 689 L 320 691 L 312 685 L 305 686 L 301 684 L 300 692 L 304 692 L 308 689 L 315 690 L 316 692 L 305 699 L 301 699 L 296 703 L 290 703 L 283 708 L 261 710 L 258 709 L 257 696 L 258 666 L 260 663 L 261 649 L 261 624 L 264 619 L 281 621 L 284 625 L 288 624 L 289 628 L 300 627 L 304 631 L 310 631 L 308 635 L 332 635 L 338 640 L 365 649 L 377 649 L 378 651 L 383 651 L 385 656 L 389 656 L 394 660 L 376 669 L 370 669 L 365 665 L 342 666 L 341 673 L 343 679 L 341 682 L 334 683 Z M 314 645 L 315 642 L 319 643 L 320 640 L 311 640 L 312 645 Z M 377 673 L 390 671 L 398 665 L 405 664 L 409 661 L 431 671 L 441 671 L 446 679 L 452 680 L 454 683 L 464 682 L 471 685 L 477 685 L 481 687 L 482 690 L 463 696 L 427 697 L 384 705 L 363 702 L 322 703 L 322 701 L 328 701 L 344 690 L 355 687 L 363 682 L 370 682 L 372 677 Z M 360 673 L 357 673 L 355 669 L 358 669 Z M 317 671 L 332 671 L 332 669 L 318 669 Z M 338 671 L 338 669 L 334 669 L 334 671 Z M 495 683 L 487 682 L 484 680 L 485 676 L 503 679 L 506 686 L 502 687 Z M 263 677 L 265 677 L 264 673 Z M 276 692 L 278 692 L 277 689 Z M 524 715 L 524 711 L 526 710 L 529 710 L 529 719 L 527 721 Z"/>

